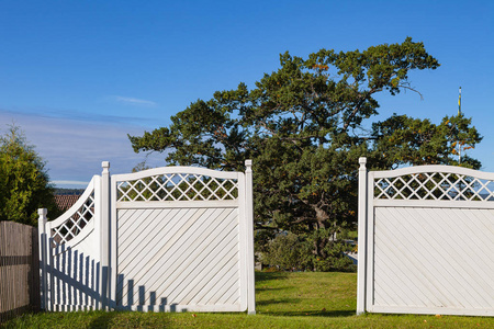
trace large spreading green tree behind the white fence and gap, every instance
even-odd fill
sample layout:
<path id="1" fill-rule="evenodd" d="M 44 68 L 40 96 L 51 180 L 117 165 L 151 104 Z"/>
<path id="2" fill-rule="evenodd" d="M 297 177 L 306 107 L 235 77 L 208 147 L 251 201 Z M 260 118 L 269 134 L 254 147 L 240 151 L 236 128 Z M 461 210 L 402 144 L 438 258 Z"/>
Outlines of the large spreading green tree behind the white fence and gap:
<path id="1" fill-rule="evenodd" d="M 136 152 L 164 152 L 170 164 L 243 170 L 254 159 L 256 228 L 315 232 L 314 254 L 325 257 L 332 234 L 356 223 L 359 157 L 371 169 L 456 164 L 456 140 L 480 141 L 461 115 L 439 124 L 396 114 L 371 121 L 375 94 L 418 93 L 408 73 L 438 67 L 409 37 L 363 52 L 321 49 L 305 59 L 285 53 L 254 89 L 217 91 L 172 116 L 170 126 L 128 137 Z M 462 164 L 480 166 L 471 158 Z"/>

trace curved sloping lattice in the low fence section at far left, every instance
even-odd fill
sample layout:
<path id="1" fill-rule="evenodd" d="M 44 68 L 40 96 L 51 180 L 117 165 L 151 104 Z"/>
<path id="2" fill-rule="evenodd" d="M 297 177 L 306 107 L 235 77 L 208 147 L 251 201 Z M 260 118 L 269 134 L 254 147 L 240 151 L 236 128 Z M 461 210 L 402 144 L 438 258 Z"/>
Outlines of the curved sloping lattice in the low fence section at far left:
<path id="1" fill-rule="evenodd" d="M 74 239 L 94 217 L 94 192 L 66 222 L 52 228 L 52 238 L 55 246 Z"/>

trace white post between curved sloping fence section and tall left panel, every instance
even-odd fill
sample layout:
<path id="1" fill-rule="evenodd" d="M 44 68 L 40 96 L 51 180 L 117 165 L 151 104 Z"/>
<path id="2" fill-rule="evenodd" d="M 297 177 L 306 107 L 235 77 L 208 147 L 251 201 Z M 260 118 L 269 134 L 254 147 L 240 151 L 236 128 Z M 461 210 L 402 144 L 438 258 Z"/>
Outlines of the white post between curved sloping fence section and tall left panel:
<path id="1" fill-rule="evenodd" d="M 110 162 L 101 163 L 101 308 L 110 306 Z M 113 229 L 113 228 L 112 228 Z"/>

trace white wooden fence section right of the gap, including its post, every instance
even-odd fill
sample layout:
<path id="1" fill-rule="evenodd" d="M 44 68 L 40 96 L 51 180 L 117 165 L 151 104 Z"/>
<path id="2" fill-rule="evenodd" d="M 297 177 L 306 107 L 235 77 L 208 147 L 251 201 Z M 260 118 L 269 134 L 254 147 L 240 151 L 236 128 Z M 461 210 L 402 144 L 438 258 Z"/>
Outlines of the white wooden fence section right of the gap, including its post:
<path id="1" fill-rule="evenodd" d="M 494 316 L 494 173 L 360 159 L 363 311 Z"/>

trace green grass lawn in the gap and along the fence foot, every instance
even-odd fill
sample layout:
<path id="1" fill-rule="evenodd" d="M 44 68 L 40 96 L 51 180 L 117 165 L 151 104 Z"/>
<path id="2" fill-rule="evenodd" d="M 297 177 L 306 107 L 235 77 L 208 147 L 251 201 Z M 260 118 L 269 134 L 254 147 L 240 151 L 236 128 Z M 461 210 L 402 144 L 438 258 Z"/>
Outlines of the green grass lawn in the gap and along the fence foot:
<path id="1" fill-rule="evenodd" d="M 5 328 L 494 328 L 494 318 L 356 316 L 355 273 L 256 273 L 257 315 L 76 311 L 25 315 Z"/>

